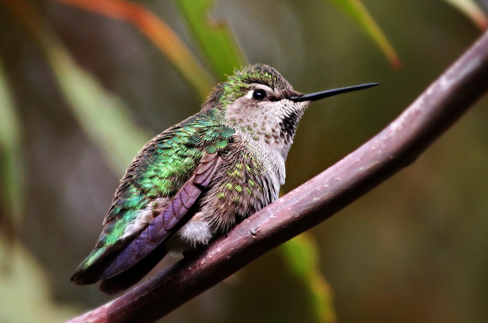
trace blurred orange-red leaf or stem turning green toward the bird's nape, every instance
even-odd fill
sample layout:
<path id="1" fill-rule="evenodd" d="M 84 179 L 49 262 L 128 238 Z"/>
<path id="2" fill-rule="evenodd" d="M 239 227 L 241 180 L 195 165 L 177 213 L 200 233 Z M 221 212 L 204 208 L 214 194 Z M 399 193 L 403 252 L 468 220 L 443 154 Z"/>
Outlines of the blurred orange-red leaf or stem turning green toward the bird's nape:
<path id="1" fill-rule="evenodd" d="M 126 0 L 57 0 L 103 16 L 132 23 L 149 38 L 171 61 L 205 101 L 215 83 L 208 71 L 191 54 L 178 35 L 161 20 L 139 3 Z"/>

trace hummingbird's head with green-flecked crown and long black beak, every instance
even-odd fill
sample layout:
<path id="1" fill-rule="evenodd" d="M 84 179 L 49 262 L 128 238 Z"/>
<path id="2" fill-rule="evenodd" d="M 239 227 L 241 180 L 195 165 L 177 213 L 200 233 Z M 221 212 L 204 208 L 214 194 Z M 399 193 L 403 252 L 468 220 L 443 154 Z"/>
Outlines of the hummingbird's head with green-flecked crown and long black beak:
<path id="1" fill-rule="evenodd" d="M 291 144 L 305 109 L 312 101 L 378 85 L 369 83 L 306 94 L 295 91 L 273 67 L 256 64 L 236 70 L 203 105 L 223 112 L 226 123 L 251 138 Z"/>

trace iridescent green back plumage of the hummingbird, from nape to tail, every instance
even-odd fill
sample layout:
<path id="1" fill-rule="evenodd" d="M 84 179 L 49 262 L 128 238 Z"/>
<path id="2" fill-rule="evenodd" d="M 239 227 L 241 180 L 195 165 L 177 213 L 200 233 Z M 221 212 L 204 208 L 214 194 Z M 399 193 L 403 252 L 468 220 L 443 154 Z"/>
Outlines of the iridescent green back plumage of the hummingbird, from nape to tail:
<path id="1" fill-rule="evenodd" d="M 144 146 L 121 180 L 95 249 L 75 272 L 116 245 L 149 202 L 159 197 L 171 199 L 192 176 L 204 151 L 225 151 L 235 130 L 220 123 L 222 120 L 222 110 L 207 109 Z"/>

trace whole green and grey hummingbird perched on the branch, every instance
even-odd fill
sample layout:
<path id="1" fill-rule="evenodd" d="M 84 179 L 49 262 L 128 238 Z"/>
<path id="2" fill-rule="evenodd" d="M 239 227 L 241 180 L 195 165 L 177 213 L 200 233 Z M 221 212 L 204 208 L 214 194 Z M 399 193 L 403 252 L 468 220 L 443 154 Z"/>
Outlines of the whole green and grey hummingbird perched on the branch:
<path id="1" fill-rule="evenodd" d="M 100 238 L 71 276 L 116 294 L 167 254 L 204 247 L 278 198 L 298 122 L 312 101 L 380 83 L 304 95 L 256 64 L 218 84 L 197 114 L 149 141 L 128 166 Z"/>

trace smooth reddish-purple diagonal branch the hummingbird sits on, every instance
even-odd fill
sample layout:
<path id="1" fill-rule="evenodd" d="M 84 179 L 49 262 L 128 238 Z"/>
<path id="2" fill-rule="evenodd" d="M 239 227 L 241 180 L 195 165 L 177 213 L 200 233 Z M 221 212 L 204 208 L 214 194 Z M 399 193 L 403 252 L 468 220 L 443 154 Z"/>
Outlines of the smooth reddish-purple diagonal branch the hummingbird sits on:
<path id="1" fill-rule="evenodd" d="M 194 257 L 70 323 L 154 322 L 323 222 L 417 157 L 488 88 L 488 33 L 383 131 Z"/>

